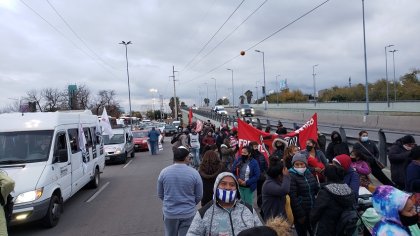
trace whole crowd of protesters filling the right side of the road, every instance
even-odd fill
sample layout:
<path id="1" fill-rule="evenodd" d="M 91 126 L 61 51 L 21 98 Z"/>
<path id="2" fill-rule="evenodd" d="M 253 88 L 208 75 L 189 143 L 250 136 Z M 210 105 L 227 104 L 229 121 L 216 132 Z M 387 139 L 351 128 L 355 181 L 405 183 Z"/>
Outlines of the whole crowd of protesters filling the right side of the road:
<path id="1" fill-rule="evenodd" d="M 184 128 L 172 145 L 174 165 L 158 179 L 165 235 L 420 235 L 420 147 L 412 136 L 389 148 L 389 179 L 367 131 L 352 149 L 336 131 L 328 146 L 320 136 L 303 150 L 281 138 L 281 122 L 273 133 L 280 138 L 270 146 L 239 147 L 236 127 L 209 120 L 199 132 Z M 361 188 L 373 203 L 363 212 Z"/>

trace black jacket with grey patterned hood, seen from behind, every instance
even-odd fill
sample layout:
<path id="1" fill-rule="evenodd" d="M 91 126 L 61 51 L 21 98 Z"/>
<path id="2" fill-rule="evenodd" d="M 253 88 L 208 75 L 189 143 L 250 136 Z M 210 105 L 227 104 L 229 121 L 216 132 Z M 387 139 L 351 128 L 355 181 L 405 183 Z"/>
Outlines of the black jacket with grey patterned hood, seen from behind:
<path id="1" fill-rule="evenodd" d="M 321 188 L 311 211 L 311 223 L 315 228 L 315 235 L 335 236 L 336 225 L 341 213 L 354 206 L 355 199 L 347 184 L 330 183 Z"/>

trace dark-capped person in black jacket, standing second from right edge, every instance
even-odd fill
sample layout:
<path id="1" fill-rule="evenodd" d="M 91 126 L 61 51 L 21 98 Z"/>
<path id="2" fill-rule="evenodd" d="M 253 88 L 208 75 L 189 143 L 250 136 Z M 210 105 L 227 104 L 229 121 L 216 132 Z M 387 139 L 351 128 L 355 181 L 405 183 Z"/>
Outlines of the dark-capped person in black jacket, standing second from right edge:
<path id="1" fill-rule="evenodd" d="M 395 141 L 388 149 L 388 159 L 391 163 L 391 180 L 398 189 L 404 189 L 405 187 L 405 172 L 410 161 L 408 156 L 415 145 L 416 141 L 413 136 L 406 135 Z"/>

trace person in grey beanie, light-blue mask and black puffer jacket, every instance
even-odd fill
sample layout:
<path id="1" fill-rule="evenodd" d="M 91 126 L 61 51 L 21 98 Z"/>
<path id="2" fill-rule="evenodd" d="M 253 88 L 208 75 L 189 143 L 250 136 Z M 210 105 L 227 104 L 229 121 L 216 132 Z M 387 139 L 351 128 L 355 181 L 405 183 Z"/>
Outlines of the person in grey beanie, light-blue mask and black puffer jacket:
<path id="1" fill-rule="evenodd" d="M 315 196 L 318 193 L 318 182 L 307 168 L 306 155 L 297 153 L 292 159 L 293 167 L 290 172 L 290 203 L 294 217 L 294 224 L 298 236 L 311 236 L 314 232 L 309 215 L 314 207 Z"/>

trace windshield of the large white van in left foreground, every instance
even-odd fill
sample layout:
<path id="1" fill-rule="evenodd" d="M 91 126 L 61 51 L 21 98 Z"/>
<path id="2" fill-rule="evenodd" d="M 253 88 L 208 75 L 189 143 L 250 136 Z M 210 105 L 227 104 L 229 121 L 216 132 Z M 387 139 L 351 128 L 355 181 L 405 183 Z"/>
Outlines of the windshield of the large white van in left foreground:
<path id="1" fill-rule="evenodd" d="M 0 132 L 0 164 L 47 161 L 53 130 Z"/>

